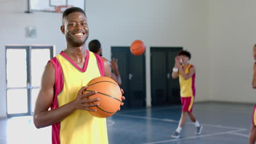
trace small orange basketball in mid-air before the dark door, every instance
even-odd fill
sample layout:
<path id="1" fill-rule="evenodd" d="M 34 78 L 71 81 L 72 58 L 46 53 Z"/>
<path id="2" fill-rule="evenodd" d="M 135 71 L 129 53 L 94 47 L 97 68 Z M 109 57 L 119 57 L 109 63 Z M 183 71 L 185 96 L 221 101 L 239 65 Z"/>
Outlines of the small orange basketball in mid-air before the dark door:
<path id="1" fill-rule="evenodd" d="M 141 40 L 135 40 L 132 42 L 130 51 L 133 55 L 139 56 L 145 51 L 145 45 Z"/>

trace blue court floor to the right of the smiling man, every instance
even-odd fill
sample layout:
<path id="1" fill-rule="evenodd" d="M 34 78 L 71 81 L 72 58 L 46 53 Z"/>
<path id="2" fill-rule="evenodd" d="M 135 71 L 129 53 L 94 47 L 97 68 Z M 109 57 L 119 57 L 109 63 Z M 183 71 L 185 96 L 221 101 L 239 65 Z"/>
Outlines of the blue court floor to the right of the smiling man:
<path id="1" fill-rule="evenodd" d="M 203 125 L 201 135 L 187 123 L 179 139 L 170 136 L 181 117 L 181 106 L 158 106 L 151 109 L 123 110 L 108 118 L 109 143 L 248 143 L 254 105 L 198 103 L 193 113 Z"/>

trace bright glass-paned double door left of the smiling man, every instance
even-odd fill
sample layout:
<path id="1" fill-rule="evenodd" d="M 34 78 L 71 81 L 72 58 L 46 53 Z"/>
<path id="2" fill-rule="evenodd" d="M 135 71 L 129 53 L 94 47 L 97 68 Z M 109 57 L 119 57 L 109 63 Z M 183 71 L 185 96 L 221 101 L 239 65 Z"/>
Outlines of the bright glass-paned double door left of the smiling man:
<path id="1" fill-rule="evenodd" d="M 44 66 L 54 46 L 6 46 L 7 116 L 33 115 Z"/>

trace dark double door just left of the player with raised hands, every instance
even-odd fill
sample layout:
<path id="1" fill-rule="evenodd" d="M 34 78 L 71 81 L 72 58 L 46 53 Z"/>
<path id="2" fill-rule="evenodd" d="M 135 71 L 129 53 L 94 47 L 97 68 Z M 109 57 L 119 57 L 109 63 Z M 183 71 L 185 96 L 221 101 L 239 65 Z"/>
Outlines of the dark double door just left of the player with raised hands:
<path id="1" fill-rule="evenodd" d="M 182 47 L 151 47 L 152 105 L 180 104 L 179 81 L 172 79 L 174 58 Z"/>

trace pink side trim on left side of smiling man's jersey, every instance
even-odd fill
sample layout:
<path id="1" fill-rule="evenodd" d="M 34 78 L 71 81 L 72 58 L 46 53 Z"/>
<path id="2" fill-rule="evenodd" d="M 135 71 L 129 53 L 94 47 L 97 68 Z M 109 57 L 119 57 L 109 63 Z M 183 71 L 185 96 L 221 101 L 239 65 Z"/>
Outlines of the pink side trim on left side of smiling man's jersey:
<path id="1" fill-rule="evenodd" d="M 59 107 L 57 95 L 59 95 L 63 88 L 63 74 L 61 65 L 56 57 L 50 59 L 51 63 L 53 63 L 55 68 L 55 83 L 54 83 L 54 99 L 51 104 L 51 110 L 57 109 Z M 52 143 L 60 144 L 60 123 L 56 123 L 52 125 Z"/>

